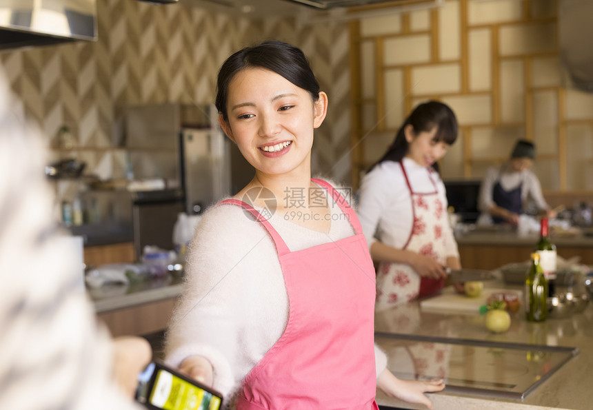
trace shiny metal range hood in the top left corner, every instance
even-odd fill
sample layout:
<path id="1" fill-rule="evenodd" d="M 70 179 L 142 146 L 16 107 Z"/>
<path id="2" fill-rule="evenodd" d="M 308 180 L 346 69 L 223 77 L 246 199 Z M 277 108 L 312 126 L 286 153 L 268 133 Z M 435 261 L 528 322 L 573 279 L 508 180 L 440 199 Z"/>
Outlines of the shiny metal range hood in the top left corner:
<path id="1" fill-rule="evenodd" d="M 97 0 L 0 0 L 0 50 L 97 40 Z"/>

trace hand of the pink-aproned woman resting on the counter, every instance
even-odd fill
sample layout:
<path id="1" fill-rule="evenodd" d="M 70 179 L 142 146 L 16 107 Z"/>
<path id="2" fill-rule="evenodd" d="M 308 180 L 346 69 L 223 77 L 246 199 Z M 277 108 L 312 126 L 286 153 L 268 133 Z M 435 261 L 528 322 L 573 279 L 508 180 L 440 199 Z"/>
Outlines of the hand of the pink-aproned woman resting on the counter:
<path id="1" fill-rule="evenodd" d="M 445 388 L 443 380 L 401 380 L 385 369 L 376 380 L 376 386 L 387 396 L 399 398 L 408 403 L 424 404 L 432 410 L 432 402 L 424 393 L 441 391 Z"/>

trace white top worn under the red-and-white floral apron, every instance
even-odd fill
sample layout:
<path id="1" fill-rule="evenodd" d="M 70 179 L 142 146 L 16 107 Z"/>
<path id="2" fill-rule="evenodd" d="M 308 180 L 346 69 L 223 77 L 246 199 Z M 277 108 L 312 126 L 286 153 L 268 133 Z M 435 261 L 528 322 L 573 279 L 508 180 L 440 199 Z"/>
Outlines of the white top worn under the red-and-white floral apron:
<path id="1" fill-rule="evenodd" d="M 439 198 L 446 209 L 447 195 L 439 174 L 431 172 L 429 176 L 426 167 L 410 158 L 403 158 L 403 165 L 413 191 L 434 192 L 436 185 Z M 364 176 L 356 213 L 359 215 L 369 249 L 376 240 L 396 249 L 404 247 L 412 232 L 414 215 L 410 189 L 405 183 L 399 163 L 383 161 Z M 459 258 L 459 250 L 450 226 L 446 225 L 444 230 L 443 235 L 448 244 L 446 256 Z"/>

